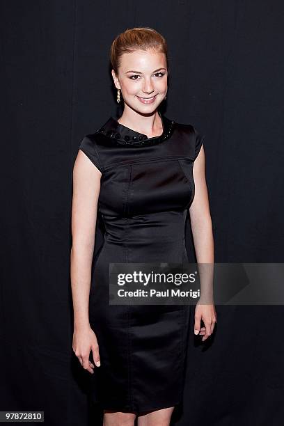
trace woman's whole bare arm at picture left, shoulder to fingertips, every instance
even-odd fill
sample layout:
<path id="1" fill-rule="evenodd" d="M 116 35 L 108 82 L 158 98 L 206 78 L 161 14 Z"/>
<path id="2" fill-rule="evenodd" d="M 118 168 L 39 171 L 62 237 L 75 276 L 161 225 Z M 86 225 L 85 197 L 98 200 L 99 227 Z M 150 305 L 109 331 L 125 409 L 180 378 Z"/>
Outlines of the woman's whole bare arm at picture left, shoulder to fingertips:
<path id="1" fill-rule="evenodd" d="M 79 150 L 73 168 L 72 248 L 70 255 L 75 336 L 73 349 L 81 364 L 88 371 L 91 370 L 88 366 L 90 349 L 93 348 L 93 356 L 95 352 L 96 358 L 99 359 L 97 340 L 89 324 L 88 303 L 101 175 L 102 173 L 92 164 L 84 152 Z M 94 361 L 96 360 L 94 359 Z"/>

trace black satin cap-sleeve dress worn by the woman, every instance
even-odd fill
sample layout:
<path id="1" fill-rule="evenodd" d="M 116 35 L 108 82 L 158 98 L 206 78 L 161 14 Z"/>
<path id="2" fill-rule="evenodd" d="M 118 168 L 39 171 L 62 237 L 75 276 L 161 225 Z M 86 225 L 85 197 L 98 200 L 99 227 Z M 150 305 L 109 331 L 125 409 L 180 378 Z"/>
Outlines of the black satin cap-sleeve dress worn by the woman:
<path id="1" fill-rule="evenodd" d="M 190 306 L 109 305 L 110 262 L 188 262 L 184 227 L 203 136 L 159 115 L 161 136 L 148 138 L 110 117 L 79 146 L 102 172 L 105 235 L 89 303 L 101 361 L 90 382 L 102 409 L 143 413 L 182 402 Z"/>

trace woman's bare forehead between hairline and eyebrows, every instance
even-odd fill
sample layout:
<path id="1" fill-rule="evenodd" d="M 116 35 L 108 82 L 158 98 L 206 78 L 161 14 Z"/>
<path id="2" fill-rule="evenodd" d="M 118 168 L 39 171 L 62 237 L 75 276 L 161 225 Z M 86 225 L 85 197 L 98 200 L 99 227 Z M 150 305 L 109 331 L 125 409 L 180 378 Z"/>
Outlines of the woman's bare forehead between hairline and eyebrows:
<path id="1" fill-rule="evenodd" d="M 134 50 L 120 56 L 122 71 L 151 71 L 157 68 L 166 68 L 166 55 L 157 50 Z"/>

